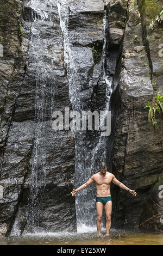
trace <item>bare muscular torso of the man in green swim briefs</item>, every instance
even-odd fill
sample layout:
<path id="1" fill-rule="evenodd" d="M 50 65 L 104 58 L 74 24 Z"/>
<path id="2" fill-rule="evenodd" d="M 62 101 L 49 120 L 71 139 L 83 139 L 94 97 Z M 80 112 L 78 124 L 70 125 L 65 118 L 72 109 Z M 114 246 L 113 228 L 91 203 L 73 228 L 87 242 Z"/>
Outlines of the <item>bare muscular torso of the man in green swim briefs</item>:
<path id="1" fill-rule="evenodd" d="M 93 175 L 93 179 L 96 182 L 97 197 L 109 197 L 110 194 L 110 183 L 112 181 L 112 174 L 106 172 L 104 175 L 98 172 Z"/>

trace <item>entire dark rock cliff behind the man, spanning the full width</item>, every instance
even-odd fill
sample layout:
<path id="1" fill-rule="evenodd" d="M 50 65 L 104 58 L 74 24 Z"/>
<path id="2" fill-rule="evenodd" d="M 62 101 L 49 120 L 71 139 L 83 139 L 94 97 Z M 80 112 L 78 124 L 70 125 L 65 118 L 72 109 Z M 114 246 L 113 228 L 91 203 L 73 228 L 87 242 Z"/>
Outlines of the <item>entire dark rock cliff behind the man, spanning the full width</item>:
<path id="1" fill-rule="evenodd" d="M 144 108 L 163 95 L 162 31 L 147 40 L 145 1 L 0 0 L 0 10 L 0 235 L 95 225 L 95 186 L 76 207 L 70 192 L 104 157 L 137 192 L 111 186 L 112 227 L 163 230 L 162 116 L 153 127 Z M 107 94 L 109 138 L 52 129 L 54 111 L 101 110 Z"/>

